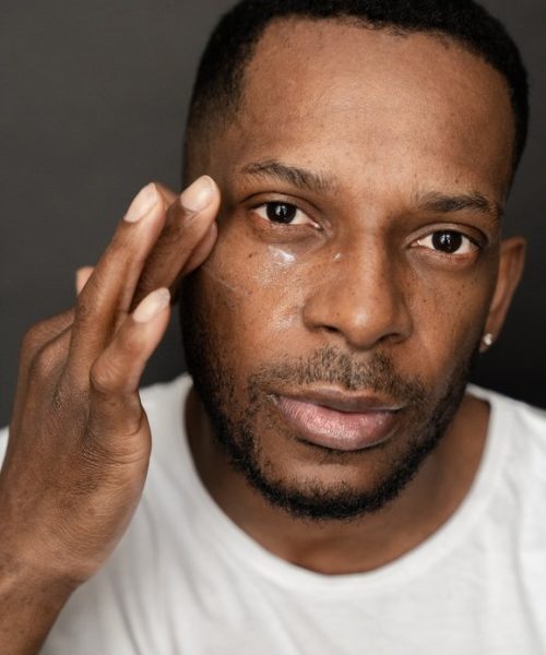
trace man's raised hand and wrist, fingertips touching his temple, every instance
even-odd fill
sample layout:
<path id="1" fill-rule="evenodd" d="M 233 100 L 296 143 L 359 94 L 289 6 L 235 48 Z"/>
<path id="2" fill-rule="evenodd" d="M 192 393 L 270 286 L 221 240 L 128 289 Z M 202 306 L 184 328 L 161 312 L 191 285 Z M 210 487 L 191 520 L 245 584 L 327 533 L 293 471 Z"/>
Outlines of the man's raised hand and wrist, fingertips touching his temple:
<path id="1" fill-rule="evenodd" d="M 181 198 L 145 187 L 83 274 L 76 306 L 24 340 L 0 473 L 4 655 L 36 652 L 131 520 L 151 450 L 139 382 L 167 327 L 169 288 L 214 246 L 218 206 L 206 177 Z"/>

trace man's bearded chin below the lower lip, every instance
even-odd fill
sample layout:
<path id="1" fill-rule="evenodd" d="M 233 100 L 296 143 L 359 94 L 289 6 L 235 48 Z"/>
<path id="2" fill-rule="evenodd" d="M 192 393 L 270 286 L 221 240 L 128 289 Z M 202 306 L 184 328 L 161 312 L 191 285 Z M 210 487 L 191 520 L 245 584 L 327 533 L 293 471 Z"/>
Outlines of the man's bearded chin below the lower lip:
<path id="1" fill-rule="evenodd" d="M 221 443 L 234 468 L 275 508 L 296 519 L 346 521 L 377 513 L 394 501 L 442 433 L 357 453 L 295 446 L 285 438 L 270 449 L 268 440 L 240 432 L 227 448 L 226 436 Z"/>

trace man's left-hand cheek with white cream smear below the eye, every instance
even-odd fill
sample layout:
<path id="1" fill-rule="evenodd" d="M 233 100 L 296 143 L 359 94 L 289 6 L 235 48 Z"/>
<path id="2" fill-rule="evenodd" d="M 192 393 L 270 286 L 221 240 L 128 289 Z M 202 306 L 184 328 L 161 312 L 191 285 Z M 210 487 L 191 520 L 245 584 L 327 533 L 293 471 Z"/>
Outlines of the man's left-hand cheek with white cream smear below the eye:
<path id="1" fill-rule="evenodd" d="M 297 356 L 301 309 L 317 275 L 310 259 L 278 245 L 257 243 L 225 229 L 199 270 L 209 320 L 237 364 Z"/>

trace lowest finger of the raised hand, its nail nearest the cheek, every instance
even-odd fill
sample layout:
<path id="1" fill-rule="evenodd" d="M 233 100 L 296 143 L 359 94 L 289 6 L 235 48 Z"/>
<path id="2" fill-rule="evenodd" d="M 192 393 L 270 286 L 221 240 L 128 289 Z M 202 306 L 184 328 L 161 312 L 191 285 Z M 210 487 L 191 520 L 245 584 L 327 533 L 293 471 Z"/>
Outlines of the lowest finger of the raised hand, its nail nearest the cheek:
<path id="1" fill-rule="evenodd" d="M 91 427 L 94 434 L 122 436 L 138 430 L 142 414 L 138 397 L 140 379 L 167 329 L 169 301 L 166 288 L 149 294 L 93 365 Z"/>

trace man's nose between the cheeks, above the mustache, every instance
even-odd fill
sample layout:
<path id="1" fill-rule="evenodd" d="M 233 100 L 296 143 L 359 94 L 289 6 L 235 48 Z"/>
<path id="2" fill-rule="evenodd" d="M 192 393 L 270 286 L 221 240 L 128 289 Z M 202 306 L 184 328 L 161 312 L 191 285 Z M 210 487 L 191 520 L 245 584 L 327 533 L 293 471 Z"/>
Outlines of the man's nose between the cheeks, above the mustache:
<path id="1" fill-rule="evenodd" d="M 344 340 L 358 350 L 412 334 L 403 273 L 384 245 L 354 243 L 321 263 L 320 281 L 302 309 L 308 330 Z"/>

